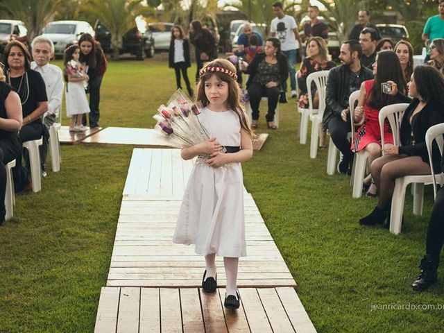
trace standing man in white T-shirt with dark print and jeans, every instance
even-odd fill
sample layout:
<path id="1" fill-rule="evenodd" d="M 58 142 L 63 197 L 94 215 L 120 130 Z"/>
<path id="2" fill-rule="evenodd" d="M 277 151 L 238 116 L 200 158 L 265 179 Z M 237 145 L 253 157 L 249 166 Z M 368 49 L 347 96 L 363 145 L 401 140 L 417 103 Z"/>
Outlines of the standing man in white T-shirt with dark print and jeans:
<path id="1" fill-rule="evenodd" d="M 300 42 L 298 26 L 294 17 L 285 15 L 281 2 L 273 3 L 273 12 L 276 17 L 271 20 L 270 31 L 273 37 L 280 40 L 280 48 L 287 56 L 290 70 L 291 97 L 296 97 L 296 53 L 298 49 L 301 57 L 303 53 L 302 48 L 299 47 L 302 43 Z M 282 88 L 286 91 L 287 84 Z"/>

